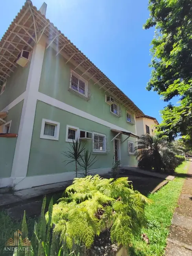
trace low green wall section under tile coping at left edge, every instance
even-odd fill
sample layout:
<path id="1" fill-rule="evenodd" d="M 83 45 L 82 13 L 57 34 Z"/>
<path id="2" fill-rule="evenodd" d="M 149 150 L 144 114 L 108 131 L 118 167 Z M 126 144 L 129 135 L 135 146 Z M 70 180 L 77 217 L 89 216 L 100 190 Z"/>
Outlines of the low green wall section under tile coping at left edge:
<path id="1" fill-rule="evenodd" d="M 11 176 L 17 138 L 0 138 L 0 178 Z"/>

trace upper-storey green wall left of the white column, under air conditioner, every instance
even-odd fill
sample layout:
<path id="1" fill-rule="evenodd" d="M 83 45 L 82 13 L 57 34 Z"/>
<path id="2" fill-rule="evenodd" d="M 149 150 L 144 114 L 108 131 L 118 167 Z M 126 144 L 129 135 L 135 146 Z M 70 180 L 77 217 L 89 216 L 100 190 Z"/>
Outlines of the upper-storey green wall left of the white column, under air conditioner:
<path id="1" fill-rule="evenodd" d="M 2 95 L 0 95 L 0 111 L 15 100 L 19 95 L 26 90 L 28 74 L 29 74 L 30 62 L 26 67 L 18 65 L 6 83 L 6 89 Z M 0 87 L 1 88 L 1 87 Z"/>

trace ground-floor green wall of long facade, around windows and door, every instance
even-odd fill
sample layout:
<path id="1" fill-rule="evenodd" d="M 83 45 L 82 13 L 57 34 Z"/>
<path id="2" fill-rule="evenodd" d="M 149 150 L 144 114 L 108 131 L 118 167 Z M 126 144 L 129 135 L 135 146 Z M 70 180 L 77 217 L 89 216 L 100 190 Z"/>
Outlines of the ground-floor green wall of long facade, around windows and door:
<path id="1" fill-rule="evenodd" d="M 60 123 L 59 141 L 40 139 L 41 123 L 43 118 Z M 63 150 L 67 150 L 68 147 L 70 147 L 70 143 L 65 141 L 67 124 L 90 132 L 94 130 L 96 132 L 105 133 L 107 135 L 111 151 L 107 154 L 97 154 L 98 161 L 94 164 L 92 169 L 112 167 L 114 152 L 113 142 L 111 142 L 111 139 L 116 134 L 113 134 L 109 127 L 39 101 L 37 102 L 35 114 L 27 176 L 74 171 L 73 164 L 66 165 L 66 163 L 63 163 L 65 157 L 61 154 Z M 121 141 L 126 139 L 126 137 L 127 136 L 125 135 L 121 135 Z M 133 141 L 135 141 L 135 139 L 133 139 Z M 89 150 L 92 149 L 92 141 L 86 142 L 86 148 Z M 93 156 L 94 155 L 95 154 L 93 154 Z M 128 155 L 127 141 L 121 144 L 121 162 L 122 165 L 137 164 L 135 156 Z"/>

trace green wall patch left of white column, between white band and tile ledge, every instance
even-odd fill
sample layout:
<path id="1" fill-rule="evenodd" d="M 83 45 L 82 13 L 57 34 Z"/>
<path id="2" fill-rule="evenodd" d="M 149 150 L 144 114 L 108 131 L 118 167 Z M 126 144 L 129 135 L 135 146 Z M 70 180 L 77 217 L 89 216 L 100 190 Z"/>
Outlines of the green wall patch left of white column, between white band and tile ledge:
<path id="1" fill-rule="evenodd" d="M 23 107 L 23 100 L 20 101 L 13 108 L 9 109 L 7 117 L 4 118 L 6 122 L 11 121 L 10 133 L 12 134 L 18 134 L 22 107 Z"/>

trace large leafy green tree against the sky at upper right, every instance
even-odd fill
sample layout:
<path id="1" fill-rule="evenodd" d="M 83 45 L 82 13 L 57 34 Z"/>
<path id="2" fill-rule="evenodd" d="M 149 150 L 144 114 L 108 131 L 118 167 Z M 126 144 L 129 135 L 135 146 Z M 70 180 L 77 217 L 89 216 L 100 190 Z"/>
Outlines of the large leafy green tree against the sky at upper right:
<path id="1" fill-rule="evenodd" d="M 168 104 L 158 130 L 174 140 L 178 134 L 192 145 L 192 1 L 149 0 L 150 18 L 145 29 L 155 26 L 151 42 L 151 79 L 146 89 L 157 91 L 168 102 L 179 96 L 179 106 Z"/>

